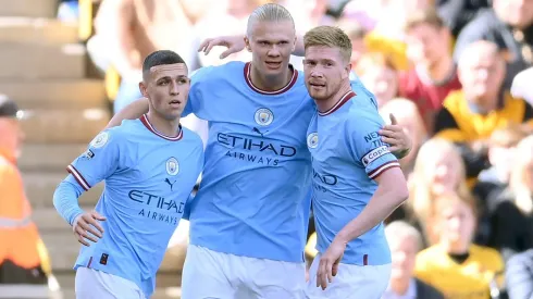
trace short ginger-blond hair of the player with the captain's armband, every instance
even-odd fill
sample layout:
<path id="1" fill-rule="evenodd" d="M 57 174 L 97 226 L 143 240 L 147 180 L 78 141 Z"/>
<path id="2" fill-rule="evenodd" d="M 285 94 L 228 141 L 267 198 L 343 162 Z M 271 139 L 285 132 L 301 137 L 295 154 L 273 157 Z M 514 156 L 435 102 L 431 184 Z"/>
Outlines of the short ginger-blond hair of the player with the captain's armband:
<path id="1" fill-rule="evenodd" d="M 351 58 L 351 41 L 348 35 L 338 27 L 319 26 L 307 32 L 303 36 L 303 47 L 307 50 L 309 47 L 330 47 L 338 48 L 343 59 L 347 62 Z"/>

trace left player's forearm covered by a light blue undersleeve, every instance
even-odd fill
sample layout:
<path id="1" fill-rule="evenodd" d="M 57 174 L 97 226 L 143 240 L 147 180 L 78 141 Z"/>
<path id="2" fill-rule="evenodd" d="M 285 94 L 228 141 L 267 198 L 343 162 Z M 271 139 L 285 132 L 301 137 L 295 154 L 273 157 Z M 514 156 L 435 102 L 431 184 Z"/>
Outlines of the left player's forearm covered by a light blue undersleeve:
<path id="1" fill-rule="evenodd" d="M 75 182 L 72 175 L 69 175 L 59 184 L 53 194 L 53 207 L 55 207 L 59 214 L 70 225 L 72 225 L 74 220 L 84 212 L 82 208 L 79 208 L 77 201 L 82 192 L 82 186 Z"/>

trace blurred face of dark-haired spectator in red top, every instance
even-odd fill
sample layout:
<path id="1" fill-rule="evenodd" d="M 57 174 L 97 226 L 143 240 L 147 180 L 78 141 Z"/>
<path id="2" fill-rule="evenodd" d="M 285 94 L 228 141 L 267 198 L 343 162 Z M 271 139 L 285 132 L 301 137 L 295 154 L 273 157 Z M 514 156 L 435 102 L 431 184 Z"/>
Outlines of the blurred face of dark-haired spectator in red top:
<path id="1" fill-rule="evenodd" d="M 406 33 L 407 54 L 416 64 L 431 67 L 449 57 L 449 36 L 446 27 L 420 23 Z"/>

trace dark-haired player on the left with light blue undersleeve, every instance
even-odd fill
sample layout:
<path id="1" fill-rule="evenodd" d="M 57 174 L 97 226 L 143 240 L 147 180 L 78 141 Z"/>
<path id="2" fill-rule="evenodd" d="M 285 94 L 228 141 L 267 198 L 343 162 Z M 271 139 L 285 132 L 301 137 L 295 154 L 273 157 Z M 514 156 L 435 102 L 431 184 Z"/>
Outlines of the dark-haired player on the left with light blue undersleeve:
<path id="1" fill-rule="evenodd" d="M 67 166 L 53 203 L 83 245 L 74 269 L 79 299 L 149 298 L 156 273 L 203 166 L 200 137 L 183 128 L 187 65 L 156 51 L 142 65 L 140 119 L 101 132 Z M 77 198 L 97 183 L 106 188 L 95 211 Z"/>

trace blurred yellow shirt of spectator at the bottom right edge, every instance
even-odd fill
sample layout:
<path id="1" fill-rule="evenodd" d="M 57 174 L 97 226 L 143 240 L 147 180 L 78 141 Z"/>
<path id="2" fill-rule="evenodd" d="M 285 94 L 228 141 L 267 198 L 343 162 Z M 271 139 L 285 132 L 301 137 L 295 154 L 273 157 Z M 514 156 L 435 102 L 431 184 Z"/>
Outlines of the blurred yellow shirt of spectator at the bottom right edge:
<path id="1" fill-rule="evenodd" d="M 503 271 L 504 260 L 496 250 L 475 245 L 461 264 L 438 245 L 417 256 L 416 276 L 438 289 L 446 299 L 487 299 L 491 282 Z"/>

